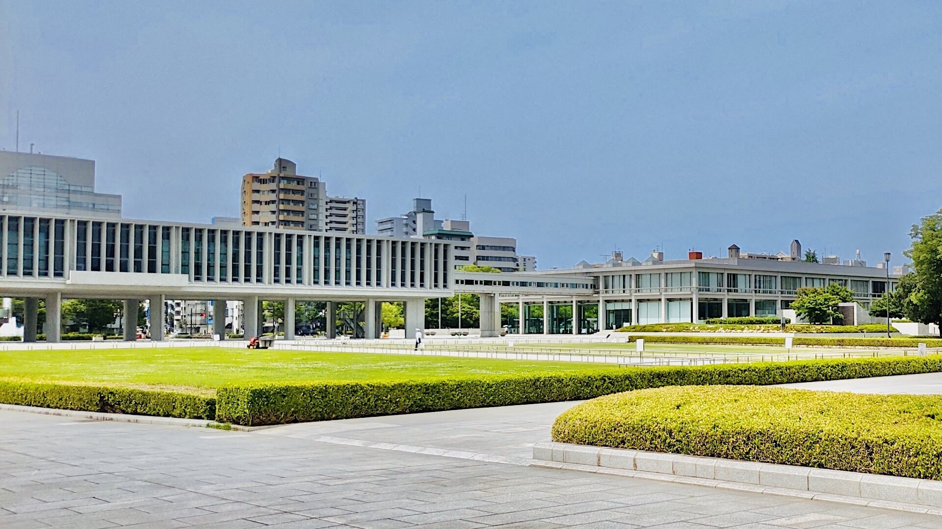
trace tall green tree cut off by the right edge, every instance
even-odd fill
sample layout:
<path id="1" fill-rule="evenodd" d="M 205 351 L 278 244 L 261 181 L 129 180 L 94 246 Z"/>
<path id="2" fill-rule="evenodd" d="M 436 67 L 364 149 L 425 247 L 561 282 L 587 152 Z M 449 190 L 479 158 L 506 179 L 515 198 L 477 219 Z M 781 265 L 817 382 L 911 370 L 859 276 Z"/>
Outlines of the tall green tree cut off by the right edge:
<path id="1" fill-rule="evenodd" d="M 909 232 L 912 247 L 903 252 L 913 262 L 915 278 L 907 285 L 906 317 L 934 323 L 942 333 L 942 209 L 923 216 Z"/>

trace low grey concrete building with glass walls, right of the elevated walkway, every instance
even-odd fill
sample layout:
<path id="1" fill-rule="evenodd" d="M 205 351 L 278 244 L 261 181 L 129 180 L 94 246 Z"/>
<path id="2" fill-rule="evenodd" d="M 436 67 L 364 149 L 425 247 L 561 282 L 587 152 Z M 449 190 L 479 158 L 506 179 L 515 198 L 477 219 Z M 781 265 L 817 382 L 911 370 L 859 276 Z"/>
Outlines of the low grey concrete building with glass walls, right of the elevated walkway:
<path id="1" fill-rule="evenodd" d="M 561 284 L 560 278 L 570 278 L 574 284 L 588 282 L 593 294 L 542 288 L 536 289 L 538 293 L 503 294 L 500 302 L 518 307 L 516 318 L 503 322 L 512 332 L 589 334 L 633 324 L 781 315 L 790 308 L 799 288 L 835 282 L 851 289 L 855 301 L 866 308 L 887 288 L 895 287 L 899 276 L 889 274 L 887 285 L 886 272 L 877 267 L 751 259 L 736 254 L 665 261 L 655 252 L 643 263 L 611 259 L 602 264 L 583 262 L 569 270 L 520 272 L 515 275 L 526 275 L 541 286 Z M 542 277 L 553 279 L 546 283 L 540 281 Z M 456 288 L 462 289 L 462 285 Z"/>

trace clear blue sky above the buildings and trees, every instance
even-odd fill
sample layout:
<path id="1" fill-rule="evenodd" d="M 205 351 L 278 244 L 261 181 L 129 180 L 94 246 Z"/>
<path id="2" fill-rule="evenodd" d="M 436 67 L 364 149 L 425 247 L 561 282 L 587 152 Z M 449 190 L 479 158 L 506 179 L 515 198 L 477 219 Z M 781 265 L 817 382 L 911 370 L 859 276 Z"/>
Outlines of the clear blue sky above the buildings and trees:
<path id="1" fill-rule="evenodd" d="M 278 155 L 541 268 L 663 245 L 870 263 L 942 206 L 942 2 L 0 0 L 0 147 L 126 216 L 237 216 Z"/>

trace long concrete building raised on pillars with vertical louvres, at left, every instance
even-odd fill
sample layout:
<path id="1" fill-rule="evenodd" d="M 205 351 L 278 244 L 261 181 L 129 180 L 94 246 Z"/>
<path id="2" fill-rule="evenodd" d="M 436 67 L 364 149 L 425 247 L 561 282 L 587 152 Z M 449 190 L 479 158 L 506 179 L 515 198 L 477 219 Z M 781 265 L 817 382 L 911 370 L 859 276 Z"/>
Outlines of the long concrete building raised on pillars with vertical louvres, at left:
<path id="1" fill-rule="evenodd" d="M 260 329 L 261 300 L 284 300 L 286 338 L 295 301 L 365 301 L 365 335 L 376 337 L 378 303 L 402 301 L 408 328 L 424 329 L 425 300 L 453 294 L 451 244 L 420 238 L 274 228 L 0 215 L 0 295 L 24 297 L 24 340 L 36 339 L 39 300 L 46 305 L 46 340 L 61 333 L 63 298 L 125 299 L 137 321 L 141 299 L 210 299 L 215 332 L 223 335 L 225 301 L 244 302 L 247 334 Z M 332 329 L 328 329 L 330 333 Z M 150 325 L 162 340 L 163 322 Z M 135 329 L 125 329 L 133 339 Z"/>

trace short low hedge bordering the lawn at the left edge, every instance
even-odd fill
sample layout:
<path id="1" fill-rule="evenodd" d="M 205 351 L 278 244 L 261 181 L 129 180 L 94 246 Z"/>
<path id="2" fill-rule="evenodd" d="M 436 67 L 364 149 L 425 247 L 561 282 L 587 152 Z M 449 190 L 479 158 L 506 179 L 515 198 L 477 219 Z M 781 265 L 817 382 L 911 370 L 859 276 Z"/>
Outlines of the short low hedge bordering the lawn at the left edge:
<path id="1" fill-rule="evenodd" d="M 184 419 L 216 416 L 216 398 L 212 396 L 54 382 L 0 380 L 0 402 Z"/>

